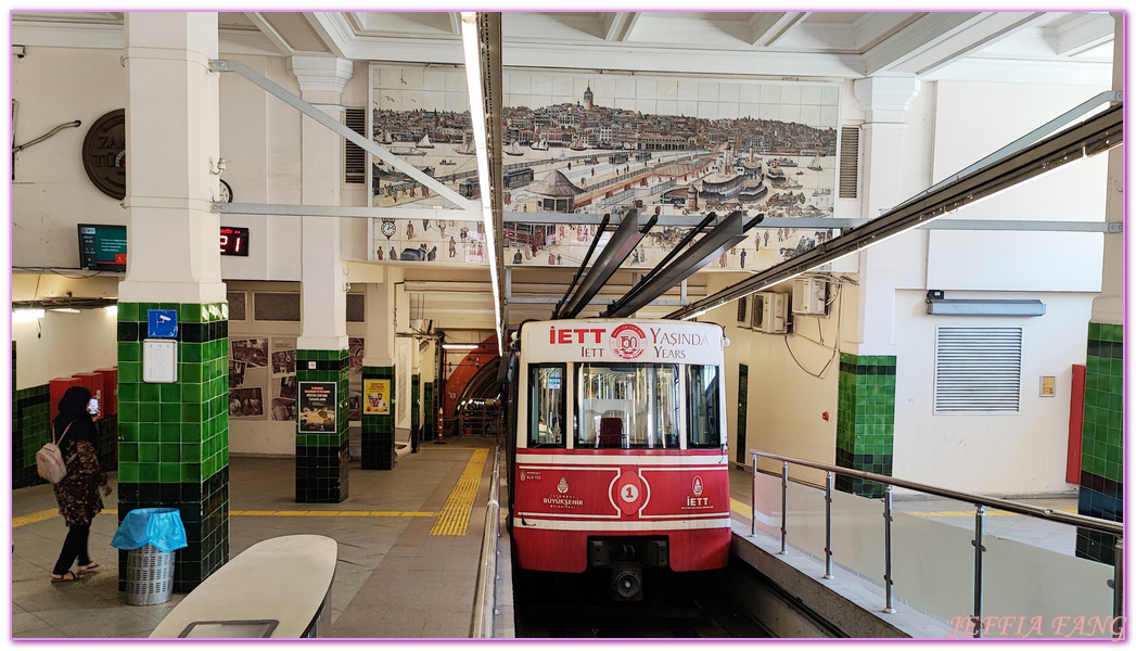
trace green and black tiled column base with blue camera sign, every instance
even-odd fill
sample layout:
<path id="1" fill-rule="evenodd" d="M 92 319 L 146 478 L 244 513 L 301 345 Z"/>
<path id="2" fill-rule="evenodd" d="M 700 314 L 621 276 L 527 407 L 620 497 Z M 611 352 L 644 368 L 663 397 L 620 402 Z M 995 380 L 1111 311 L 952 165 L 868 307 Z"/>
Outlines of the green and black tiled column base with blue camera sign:
<path id="1" fill-rule="evenodd" d="M 177 382 L 142 382 L 151 309 L 177 310 Z M 228 303 L 118 303 L 118 519 L 176 508 L 174 591 L 228 562 Z M 125 590 L 126 552 L 118 587 Z"/>

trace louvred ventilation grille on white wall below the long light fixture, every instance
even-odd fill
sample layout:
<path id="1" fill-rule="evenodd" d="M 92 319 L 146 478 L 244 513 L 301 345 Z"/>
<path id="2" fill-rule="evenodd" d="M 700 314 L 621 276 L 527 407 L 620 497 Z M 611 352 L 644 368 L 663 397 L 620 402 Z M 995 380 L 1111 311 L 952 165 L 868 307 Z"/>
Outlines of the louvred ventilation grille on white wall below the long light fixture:
<path id="1" fill-rule="evenodd" d="M 938 327 L 935 414 L 1018 414 L 1020 327 Z"/>

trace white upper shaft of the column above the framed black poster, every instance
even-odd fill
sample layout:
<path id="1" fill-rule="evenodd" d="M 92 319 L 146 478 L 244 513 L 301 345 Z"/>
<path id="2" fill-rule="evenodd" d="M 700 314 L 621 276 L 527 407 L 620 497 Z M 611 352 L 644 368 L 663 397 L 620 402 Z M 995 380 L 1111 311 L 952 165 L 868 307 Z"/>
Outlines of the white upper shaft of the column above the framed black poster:
<path id="1" fill-rule="evenodd" d="M 300 97 L 343 122 L 343 86 L 351 61 L 333 57 L 292 57 Z M 303 116 L 300 127 L 301 201 L 308 206 L 339 206 L 343 182 L 343 139 Z M 346 276 L 340 259 L 337 217 L 301 217 L 303 333 L 301 350 L 343 350 L 348 347 Z"/>

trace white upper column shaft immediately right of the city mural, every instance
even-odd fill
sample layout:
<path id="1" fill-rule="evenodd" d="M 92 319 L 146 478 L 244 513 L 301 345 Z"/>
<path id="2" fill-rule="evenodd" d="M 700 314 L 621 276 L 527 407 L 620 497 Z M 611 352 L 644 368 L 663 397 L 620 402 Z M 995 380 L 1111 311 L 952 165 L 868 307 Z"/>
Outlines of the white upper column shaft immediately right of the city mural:
<path id="1" fill-rule="evenodd" d="M 863 183 L 863 214 L 872 219 L 905 199 L 897 180 L 902 176 L 903 130 L 907 111 L 919 94 L 913 77 L 870 77 L 857 80 L 855 97 L 867 120 L 861 126 L 860 148 Z M 860 251 L 860 291 L 855 354 L 895 354 L 895 274 L 896 239 Z"/>

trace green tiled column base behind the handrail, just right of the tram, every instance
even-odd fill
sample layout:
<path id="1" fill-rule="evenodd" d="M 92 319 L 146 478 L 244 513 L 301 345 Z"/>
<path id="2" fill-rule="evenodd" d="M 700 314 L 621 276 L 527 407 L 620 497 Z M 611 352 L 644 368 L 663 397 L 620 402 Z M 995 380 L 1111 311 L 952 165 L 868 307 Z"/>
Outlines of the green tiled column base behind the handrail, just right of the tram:
<path id="1" fill-rule="evenodd" d="M 836 465 L 879 475 L 892 474 L 895 433 L 895 357 L 841 353 L 836 409 Z M 836 476 L 836 489 L 880 498 L 884 486 Z"/>

